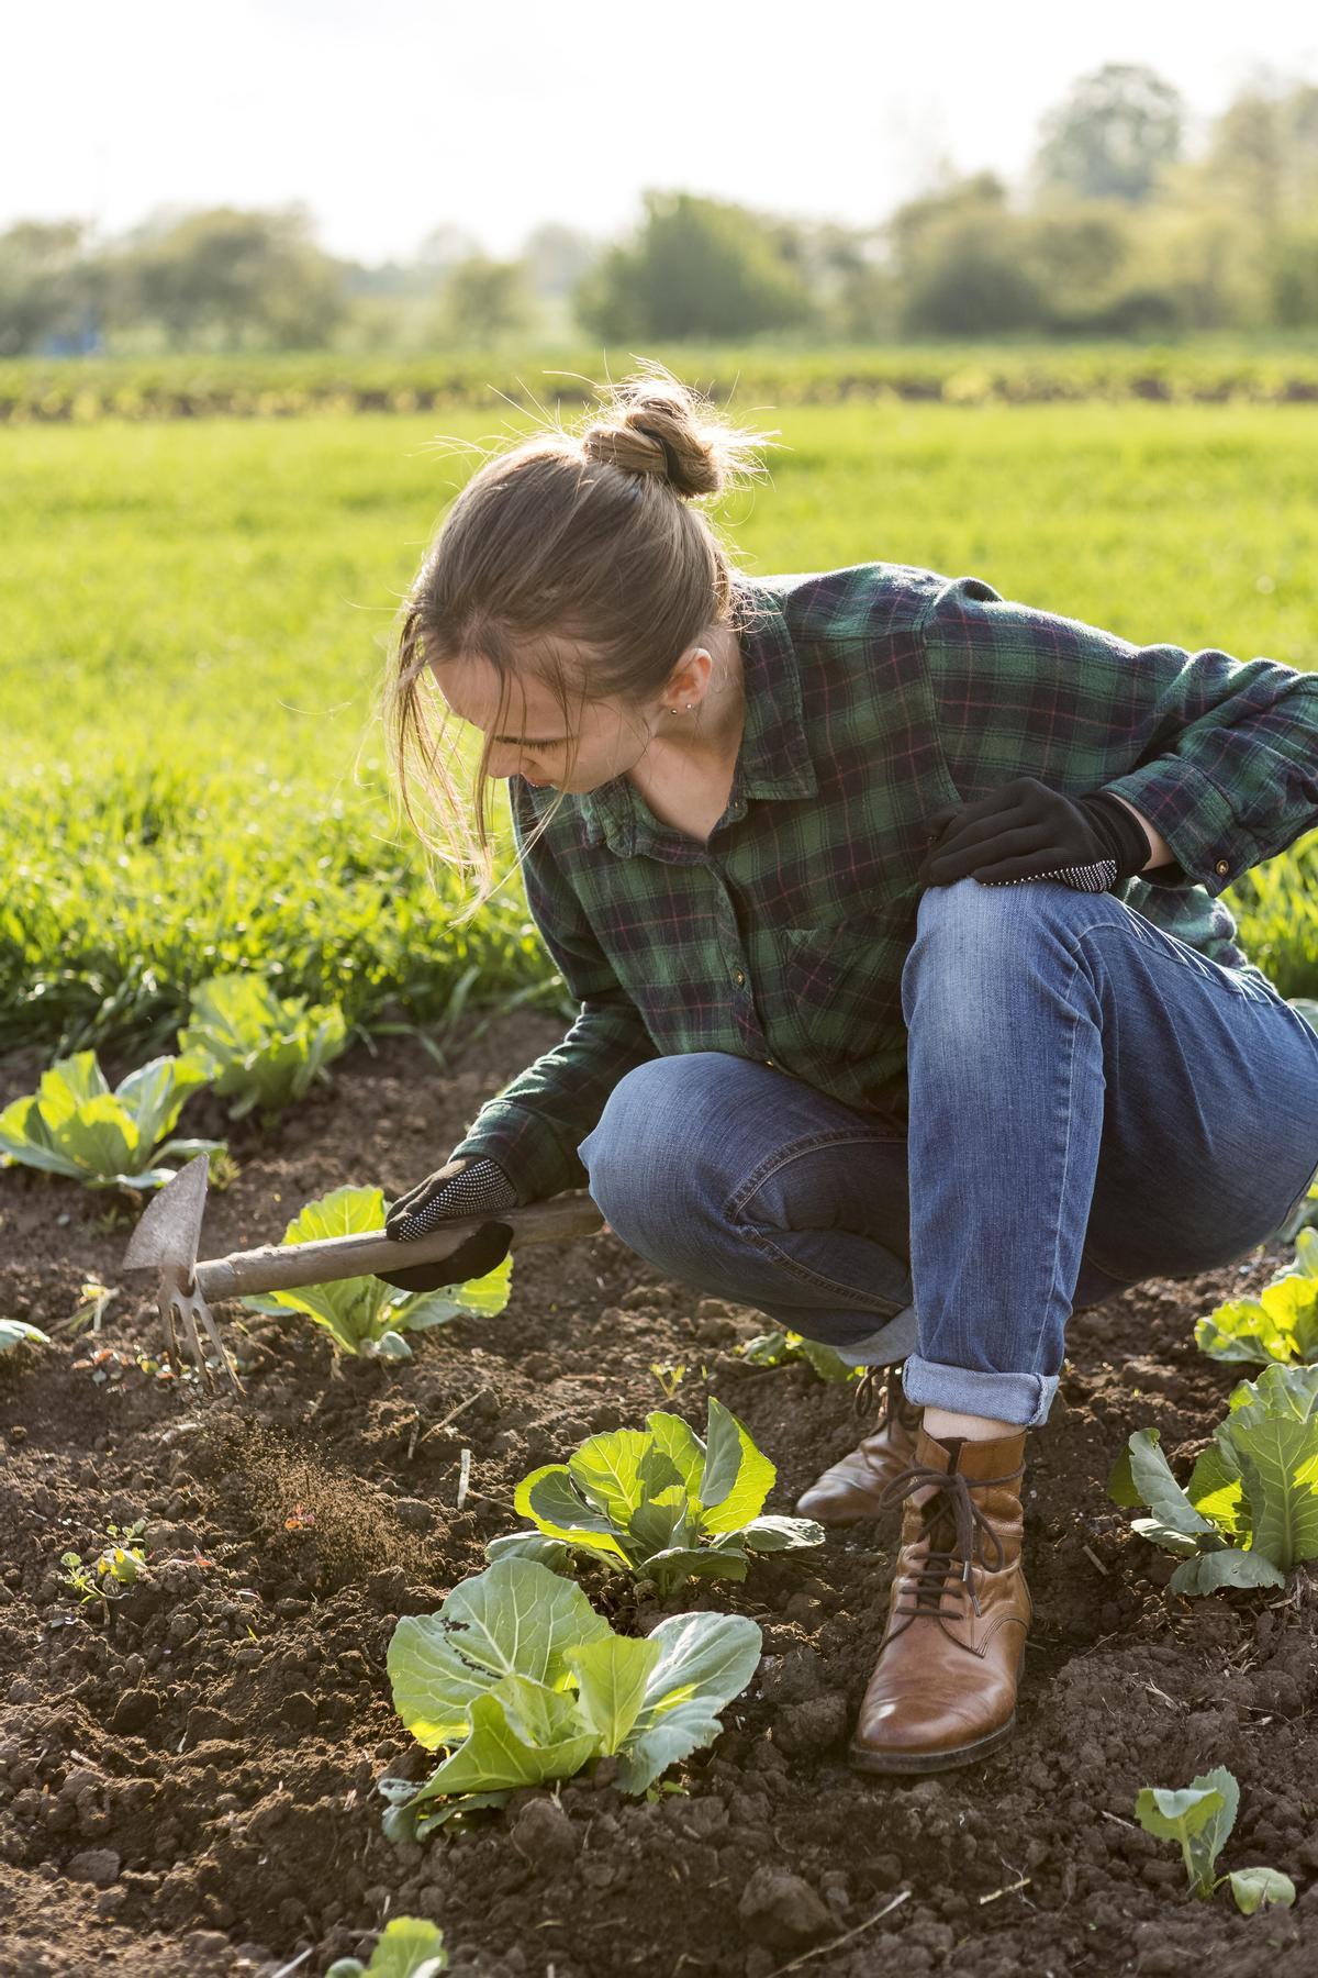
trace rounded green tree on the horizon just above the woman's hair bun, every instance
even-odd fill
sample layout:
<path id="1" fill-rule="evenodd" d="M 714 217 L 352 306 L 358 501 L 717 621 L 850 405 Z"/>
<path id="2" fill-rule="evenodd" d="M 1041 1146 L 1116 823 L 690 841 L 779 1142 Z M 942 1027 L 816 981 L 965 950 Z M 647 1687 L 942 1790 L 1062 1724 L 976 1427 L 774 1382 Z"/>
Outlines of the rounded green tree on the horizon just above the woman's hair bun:
<path id="1" fill-rule="evenodd" d="M 636 235 L 609 247 L 573 289 L 591 336 L 757 336 L 814 316 L 775 222 L 692 192 L 648 190 L 642 206 Z"/>

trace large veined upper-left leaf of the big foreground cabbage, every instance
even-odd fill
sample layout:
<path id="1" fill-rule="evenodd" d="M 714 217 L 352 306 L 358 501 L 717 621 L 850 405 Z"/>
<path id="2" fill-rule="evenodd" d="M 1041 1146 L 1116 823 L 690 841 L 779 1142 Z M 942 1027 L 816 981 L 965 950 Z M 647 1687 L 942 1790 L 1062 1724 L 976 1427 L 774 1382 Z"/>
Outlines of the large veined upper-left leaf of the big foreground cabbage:
<path id="1" fill-rule="evenodd" d="M 534 1559 L 500 1559 L 460 1580 L 437 1614 L 399 1620 L 385 1658 L 393 1709 L 427 1749 L 449 1745 L 500 1677 L 563 1689 L 567 1650 L 609 1632 L 573 1580 Z"/>

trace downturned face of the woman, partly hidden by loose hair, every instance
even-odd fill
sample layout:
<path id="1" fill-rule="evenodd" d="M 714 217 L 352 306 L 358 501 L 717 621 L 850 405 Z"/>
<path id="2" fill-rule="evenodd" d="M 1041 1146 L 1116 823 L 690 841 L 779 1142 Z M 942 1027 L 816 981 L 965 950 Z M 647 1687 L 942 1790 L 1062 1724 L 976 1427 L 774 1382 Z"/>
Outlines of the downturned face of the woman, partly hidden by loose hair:
<path id="1" fill-rule="evenodd" d="M 553 690 L 532 671 L 512 680 L 502 726 L 494 732 L 500 680 L 488 661 L 456 659 L 431 671 L 451 712 L 492 738 L 494 777 L 524 775 L 528 783 L 585 793 L 634 767 L 650 746 L 644 716 L 622 702 L 587 702 L 565 722 Z"/>

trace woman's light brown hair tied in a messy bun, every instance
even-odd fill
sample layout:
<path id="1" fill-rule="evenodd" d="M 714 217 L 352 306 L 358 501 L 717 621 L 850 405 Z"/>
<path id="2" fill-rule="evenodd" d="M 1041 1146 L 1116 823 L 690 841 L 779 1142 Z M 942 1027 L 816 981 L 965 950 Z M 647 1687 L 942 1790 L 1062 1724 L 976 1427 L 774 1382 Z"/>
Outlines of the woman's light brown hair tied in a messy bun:
<path id="1" fill-rule="evenodd" d="M 593 390 L 601 413 L 587 413 L 579 431 L 545 419 L 530 439 L 486 459 L 449 508 L 399 609 L 381 688 L 389 767 L 427 858 L 472 870 L 480 882 L 451 926 L 470 920 L 496 890 L 490 742 L 476 765 L 472 837 L 468 805 L 439 756 L 449 708 L 431 665 L 484 659 L 496 669 L 492 734 L 504 732 L 518 669 L 532 667 L 573 732 L 581 704 L 617 696 L 640 706 L 707 627 L 747 625 L 719 532 L 692 504 L 721 494 L 735 475 L 761 475 L 753 447 L 773 435 L 727 425 L 662 364 L 644 362 L 607 394 Z M 577 645 L 581 667 L 565 667 L 545 641 Z M 524 688 L 522 696 L 526 712 Z M 569 742 L 565 773 L 575 756 Z M 443 837 L 417 815 L 413 762 L 447 823 Z M 565 801 L 557 791 L 539 831 Z"/>

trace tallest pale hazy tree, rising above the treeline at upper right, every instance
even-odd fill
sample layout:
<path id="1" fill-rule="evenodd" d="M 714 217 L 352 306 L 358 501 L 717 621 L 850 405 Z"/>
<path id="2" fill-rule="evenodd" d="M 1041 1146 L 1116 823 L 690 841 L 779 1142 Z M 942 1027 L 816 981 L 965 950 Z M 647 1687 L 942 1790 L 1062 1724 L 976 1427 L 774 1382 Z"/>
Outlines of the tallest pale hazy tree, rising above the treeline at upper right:
<path id="1" fill-rule="evenodd" d="M 1043 117 L 1033 160 L 1041 188 L 1087 200 L 1146 200 L 1182 150 L 1182 95 L 1152 69 L 1109 61 Z"/>

